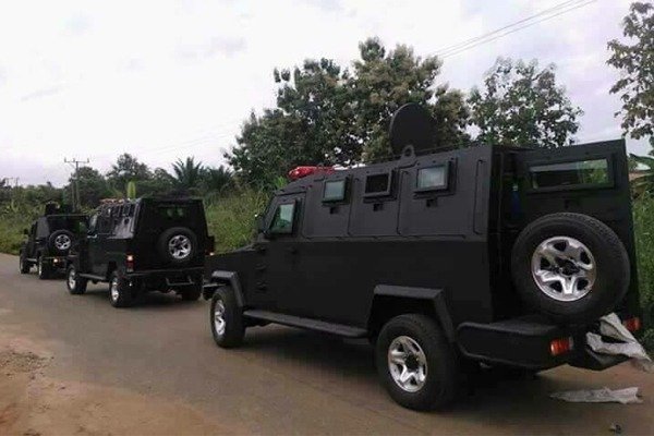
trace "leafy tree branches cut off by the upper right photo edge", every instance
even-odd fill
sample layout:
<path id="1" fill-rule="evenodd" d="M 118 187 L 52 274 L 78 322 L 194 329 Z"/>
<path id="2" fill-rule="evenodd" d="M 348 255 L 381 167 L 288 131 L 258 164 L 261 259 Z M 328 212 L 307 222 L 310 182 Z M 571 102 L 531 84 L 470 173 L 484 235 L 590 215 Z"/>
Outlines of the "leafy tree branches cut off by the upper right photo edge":
<path id="1" fill-rule="evenodd" d="M 622 22 L 628 41 L 608 43 L 607 63 L 620 70 L 621 77 L 610 88 L 619 94 L 622 130 L 634 140 L 650 136 L 654 147 L 654 5 L 634 2 Z"/>

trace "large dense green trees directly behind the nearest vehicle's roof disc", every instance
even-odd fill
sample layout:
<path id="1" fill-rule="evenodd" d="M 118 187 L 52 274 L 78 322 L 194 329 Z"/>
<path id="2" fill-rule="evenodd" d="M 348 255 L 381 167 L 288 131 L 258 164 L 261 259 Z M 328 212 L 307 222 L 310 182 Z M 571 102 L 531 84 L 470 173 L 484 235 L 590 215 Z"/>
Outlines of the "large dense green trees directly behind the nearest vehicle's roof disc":
<path id="1" fill-rule="evenodd" d="M 274 187 L 298 165 L 350 166 L 388 157 L 390 118 L 411 101 L 443 123 L 435 146 L 467 142 L 465 101 L 461 93 L 435 85 L 436 58 L 422 60 L 405 46 L 387 53 L 378 39 L 359 49 L 352 73 L 329 59 L 274 71 L 277 107 L 252 113 L 226 154 L 240 181 Z"/>

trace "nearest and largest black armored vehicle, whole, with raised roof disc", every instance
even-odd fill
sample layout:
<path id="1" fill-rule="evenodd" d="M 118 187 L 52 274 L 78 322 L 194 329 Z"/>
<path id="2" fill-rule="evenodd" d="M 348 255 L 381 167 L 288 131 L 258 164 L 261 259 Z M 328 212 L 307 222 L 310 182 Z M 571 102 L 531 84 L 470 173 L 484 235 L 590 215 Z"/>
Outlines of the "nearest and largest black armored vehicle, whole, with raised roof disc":
<path id="1" fill-rule="evenodd" d="M 268 323 L 368 338 L 382 383 L 416 410 L 481 364 L 626 359 L 585 342 L 611 312 L 640 328 L 623 141 L 434 150 L 432 125 L 408 106 L 396 160 L 291 171 L 255 242 L 208 265 L 218 346 Z"/>

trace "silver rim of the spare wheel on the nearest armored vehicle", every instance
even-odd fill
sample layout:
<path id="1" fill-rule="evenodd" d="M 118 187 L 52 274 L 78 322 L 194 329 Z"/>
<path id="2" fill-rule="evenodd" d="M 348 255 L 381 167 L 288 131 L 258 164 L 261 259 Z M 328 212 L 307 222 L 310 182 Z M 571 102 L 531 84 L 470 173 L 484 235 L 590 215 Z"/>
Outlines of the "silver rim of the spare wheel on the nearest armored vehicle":
<path id="1" fill-rule="evenodd" d="M 588 295 L 597 276 L 593 253 L 570 237 L 554 237 L 538 244 L 532 255 L 531 269 L 541 292 L 564 302 Z"/>

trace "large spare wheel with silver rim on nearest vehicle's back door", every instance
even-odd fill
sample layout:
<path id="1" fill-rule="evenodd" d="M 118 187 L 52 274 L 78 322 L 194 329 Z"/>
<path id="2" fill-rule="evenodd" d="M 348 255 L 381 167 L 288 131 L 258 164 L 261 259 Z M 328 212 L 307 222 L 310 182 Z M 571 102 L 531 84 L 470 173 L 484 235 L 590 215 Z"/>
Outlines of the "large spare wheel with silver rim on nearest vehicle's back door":
<path id="1" fill-rule="evenodd" d="M 581 214 L 552 214 L 522 230 L 511 253 L 513 283 L 531 308 L 560 323 L 584 324 L 611 312 L 630 282 L 617 234 Z"/>

